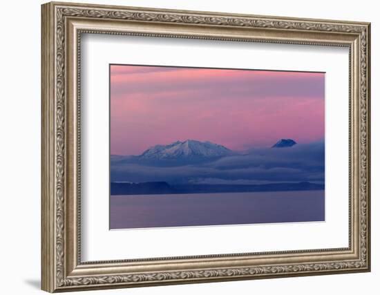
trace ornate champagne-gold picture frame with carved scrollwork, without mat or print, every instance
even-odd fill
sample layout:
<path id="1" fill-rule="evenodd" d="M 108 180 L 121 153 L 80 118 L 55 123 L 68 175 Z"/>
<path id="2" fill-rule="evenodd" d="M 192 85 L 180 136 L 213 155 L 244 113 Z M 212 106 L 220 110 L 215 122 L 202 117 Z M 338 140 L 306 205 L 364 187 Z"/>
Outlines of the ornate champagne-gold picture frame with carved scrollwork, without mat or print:
<path id="1" fill-rule="evenodd" d="M 82 262 L 82 33 L 348 47 L 349 247 Z M 42 289 L 64 292 L 370 271 L 370 23 L 46 3 L 41 35 Z"/>

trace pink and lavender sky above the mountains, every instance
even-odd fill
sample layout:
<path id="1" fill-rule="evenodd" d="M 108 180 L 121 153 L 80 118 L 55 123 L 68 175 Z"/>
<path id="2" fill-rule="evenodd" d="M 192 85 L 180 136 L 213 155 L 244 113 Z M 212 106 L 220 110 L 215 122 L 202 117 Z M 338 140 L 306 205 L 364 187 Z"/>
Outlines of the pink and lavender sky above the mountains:
<path id="1" fill-rule="evenodd" d="M 111 65 L 111 154 L 200 140 L 243 151 L 323 140 L 325 74 Z"/>

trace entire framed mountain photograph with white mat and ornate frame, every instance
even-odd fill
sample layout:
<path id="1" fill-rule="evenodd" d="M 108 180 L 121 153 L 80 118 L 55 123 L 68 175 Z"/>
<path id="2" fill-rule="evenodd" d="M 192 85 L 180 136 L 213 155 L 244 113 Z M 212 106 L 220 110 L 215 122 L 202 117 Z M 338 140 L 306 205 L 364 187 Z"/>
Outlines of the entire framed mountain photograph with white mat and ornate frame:
<path id="1" fill-rule="evenodd" d="M 42 6 L 42 289 L 370 271 L 370 23 Z"/>

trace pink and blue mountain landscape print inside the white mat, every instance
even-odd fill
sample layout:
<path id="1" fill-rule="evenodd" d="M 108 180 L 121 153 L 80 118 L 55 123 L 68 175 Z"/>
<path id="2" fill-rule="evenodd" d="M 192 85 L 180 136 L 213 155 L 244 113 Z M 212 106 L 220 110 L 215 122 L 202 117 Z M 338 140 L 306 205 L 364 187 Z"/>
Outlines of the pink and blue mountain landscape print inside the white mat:
<path id="1" fill-rule="evenodd" d="M 325 220 L 325 73 L 109 70 L 110 229 Z"/>

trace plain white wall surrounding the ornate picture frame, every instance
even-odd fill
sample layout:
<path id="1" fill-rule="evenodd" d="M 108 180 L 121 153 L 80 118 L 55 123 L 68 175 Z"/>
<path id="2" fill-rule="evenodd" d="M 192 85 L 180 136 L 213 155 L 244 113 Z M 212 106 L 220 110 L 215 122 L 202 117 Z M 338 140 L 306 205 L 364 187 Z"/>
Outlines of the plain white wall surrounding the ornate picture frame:
<path id="1" fill-rule="evenodd" d="M 86 1 L 79 1 L 84 2 Z M 93 3 L 372 22 L 372 273 L 144 287 L 86 294 L 378 294 L 380 20 L 376 1 L 125 0 Z M 1 3 L 0 278 L 2 294 L 37 294 L 40 278 L 40 4 Z M 339 175 L 337 175 L 339 177 Z"/>

